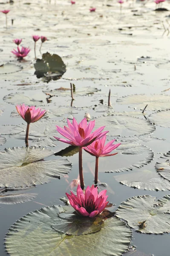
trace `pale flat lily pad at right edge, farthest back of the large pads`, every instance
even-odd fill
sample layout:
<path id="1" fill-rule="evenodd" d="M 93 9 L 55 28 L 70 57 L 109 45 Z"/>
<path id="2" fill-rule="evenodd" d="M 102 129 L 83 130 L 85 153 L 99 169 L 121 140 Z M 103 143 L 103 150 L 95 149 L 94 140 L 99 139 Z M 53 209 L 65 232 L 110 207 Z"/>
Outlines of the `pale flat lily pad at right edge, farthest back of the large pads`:
<path id="1" fill-rule="evenodd" d="M 130 96 L 123 96 L 117 99 L 119 104 L 127 104 L 130 107 L 137 109 L 144 109 L 147 105 L 147 110 L 165 110 L 170 108 L 170 96 L 169 95 L 145 95 L 134 94 Z"/>

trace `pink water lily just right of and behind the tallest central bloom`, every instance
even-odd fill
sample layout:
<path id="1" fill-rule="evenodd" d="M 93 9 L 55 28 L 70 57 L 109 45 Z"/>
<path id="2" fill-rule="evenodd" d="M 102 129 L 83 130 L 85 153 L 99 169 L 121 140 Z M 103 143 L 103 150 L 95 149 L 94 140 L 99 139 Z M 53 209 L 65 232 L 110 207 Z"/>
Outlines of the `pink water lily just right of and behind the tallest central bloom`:
<path id="1" fill-rule="evenodd" d="M 114 156 L 115 154 L 109 154 L 111 151 L 113 151 L 115 148 L 117 148 L 121 143 L 113 144 L 115 140 L 109 141 L 106 145 L 104 145 L 106 142 L 106 135 L 104 135 L 101 139 L 95 140 L 92 142 L 91 145 L 86 146 L 84 150 L 91 154 L 94 157 L 109 157 Z"/>

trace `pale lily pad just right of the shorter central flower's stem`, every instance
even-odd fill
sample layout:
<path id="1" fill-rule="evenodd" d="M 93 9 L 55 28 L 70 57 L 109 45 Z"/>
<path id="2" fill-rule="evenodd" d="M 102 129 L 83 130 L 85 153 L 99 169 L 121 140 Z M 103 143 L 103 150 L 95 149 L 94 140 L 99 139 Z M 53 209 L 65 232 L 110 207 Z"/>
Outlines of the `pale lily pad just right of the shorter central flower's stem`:
<path id="1" fill-rule="evenodd" d="M 145 145 L 138 143 L 122 143 L 118 148 L 115 149 L 115 152 L 118 151 L 115 157 L 112 157 L 109 160 L 109 166 L 112 167 L 112 171 L 107 169 L 107 163 L 100 160 L 100 169 L 99 171 L 103 172 L 124 172 L 131 171 L 134 168 L 141 168 L 144 165 L 147 165 L 153 160 L 154 153 L 150 148 L 147 148 Z M 110 164 L 111 163 L 111 164 Z M 102 166 L 103 164 L 103 166 Z M 110 167 L 109 167 L 110 168 Z"/>

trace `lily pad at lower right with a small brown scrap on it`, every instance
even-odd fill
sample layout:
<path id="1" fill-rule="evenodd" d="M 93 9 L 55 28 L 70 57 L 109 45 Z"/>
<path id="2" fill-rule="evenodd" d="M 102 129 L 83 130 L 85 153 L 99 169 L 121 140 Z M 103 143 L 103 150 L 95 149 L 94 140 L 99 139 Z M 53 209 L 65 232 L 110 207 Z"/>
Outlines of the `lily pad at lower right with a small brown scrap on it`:
<path id="1" fill-rule="evenodd" d="M 170 195 L 157 201 L 150 195 L 129 198 L 121 203 L 115 214 L 141 233 L 169 233 Z"/>

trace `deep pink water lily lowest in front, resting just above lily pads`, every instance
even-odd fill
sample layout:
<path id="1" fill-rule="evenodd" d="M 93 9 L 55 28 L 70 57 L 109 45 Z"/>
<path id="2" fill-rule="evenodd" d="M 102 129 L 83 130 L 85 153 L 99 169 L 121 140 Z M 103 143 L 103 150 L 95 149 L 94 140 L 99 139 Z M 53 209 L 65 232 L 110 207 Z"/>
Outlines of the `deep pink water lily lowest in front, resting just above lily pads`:
<path id="1" fill-rule="evenodd" d="M 80 185 L 77 187 L 77 196 L 71 191 L 71 195 L 66 193 L 71 206 L 82 216 L 94 218 L 103 212 L 109 201 L 107 201 L 107 190 L 103 190 L 98 194 L 98 189 L 94 185 L 88 186 L 85 195 Z"/>

